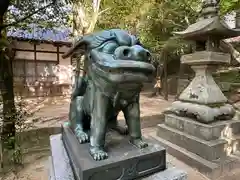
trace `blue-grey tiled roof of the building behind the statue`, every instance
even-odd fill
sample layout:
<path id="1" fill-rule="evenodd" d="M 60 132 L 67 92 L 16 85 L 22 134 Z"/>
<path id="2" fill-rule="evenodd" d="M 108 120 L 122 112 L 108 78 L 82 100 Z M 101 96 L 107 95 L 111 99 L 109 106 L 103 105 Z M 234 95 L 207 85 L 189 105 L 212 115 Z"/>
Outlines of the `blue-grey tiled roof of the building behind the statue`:
<path id="1" fill-rule="evenodd" d="M 70 28 L 45 29 L 36 26 L 31 26 L 29 30 L 14 29 L 7 32 L 8 37 L 29 39 L 29 40 L 43 40 L 53 42 L 70 42 L 71 31 Z"/>

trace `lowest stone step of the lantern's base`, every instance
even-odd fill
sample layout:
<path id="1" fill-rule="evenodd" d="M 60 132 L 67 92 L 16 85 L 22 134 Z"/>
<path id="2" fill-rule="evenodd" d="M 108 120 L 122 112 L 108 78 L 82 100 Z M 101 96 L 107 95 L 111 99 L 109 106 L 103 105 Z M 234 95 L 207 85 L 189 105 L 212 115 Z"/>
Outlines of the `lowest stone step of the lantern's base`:
<path id="1" fill-rule="evenodd" d="M 226 156 L 215 161 L 208 161 L 201 156 L 182 148 L 175 143 L 159 137 L 157 133 L 150 133 L 150 137 L 159 141 L 167 152 L 185 162 L 211 180 L 237 180 L 235 172 L 240 169 L 240 156 Z"/>

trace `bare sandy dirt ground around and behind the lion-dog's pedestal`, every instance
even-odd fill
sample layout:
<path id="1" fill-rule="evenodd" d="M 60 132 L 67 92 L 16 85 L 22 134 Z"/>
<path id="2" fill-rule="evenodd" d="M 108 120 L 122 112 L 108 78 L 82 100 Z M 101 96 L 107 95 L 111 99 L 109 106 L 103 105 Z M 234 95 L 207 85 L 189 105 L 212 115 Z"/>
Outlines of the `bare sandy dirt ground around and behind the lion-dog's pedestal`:
<path id="1" fill-rule="evenodd" d="M 47 103 L 46 103 L 47 102 Z M 69 98 L 56 98 L 47 100 L 41 103 L 32 103 L 32 109 L 35 108 L 34 116 L 27 120 L 27 123 L 33 123 L 35 128 L 41 129 L 46 127 L 60 127 L 60 125 L 67 121 Z M 141 95 L 141 117 L 143 123 L 143 134 L 147 136 L 148 132 L 155 131 L 155 124 L 158 124 L 161 119 L 158 118 L 161 112 L 170 106 L 173 98 L 169 101 L 163 100 L 162 97 L 149 98 L 146 95 Z M 123 119 L 120 114 L 119 119 Z M 150 126 L 150 127 L 149 127 Z M 41 152 L 28 154 L 25 156 L 24 167 L 17 173 L 9 173 L 2 177 L 2 180 L 47 180 L 49 162 L 48 156 L 50 151 L 47 148 Z M 173 156 L 167 155 L 168 162 L 177 167 L 187 171 L 189 180 L 207 180 L 203 175 L 196 172 L 191 167 L 178 161 Z"/>

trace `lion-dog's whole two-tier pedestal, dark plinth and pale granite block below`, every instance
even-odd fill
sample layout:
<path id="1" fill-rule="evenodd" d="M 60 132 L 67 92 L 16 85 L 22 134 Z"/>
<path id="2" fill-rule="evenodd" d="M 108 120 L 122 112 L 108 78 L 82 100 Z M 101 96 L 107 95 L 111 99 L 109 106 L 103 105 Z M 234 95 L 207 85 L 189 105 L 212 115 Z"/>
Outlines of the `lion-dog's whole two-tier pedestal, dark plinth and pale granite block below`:
<path id="1" fill-rule="evenodd" d="M 88 144 L 75 144 L 68 129 L 64 130 L 63 135 L 51 136 L 49 180 L 187 179 L 185 172 L 166 165 L 165 149 L 155 144 L 156 141 L 148 140 L 148 148 L 137 150 L 127 140 L 117 137 L 119 135 L 111 133 L 111 141 L 107 143 L 109 158 L 94 161 L 88 153 Z"/>

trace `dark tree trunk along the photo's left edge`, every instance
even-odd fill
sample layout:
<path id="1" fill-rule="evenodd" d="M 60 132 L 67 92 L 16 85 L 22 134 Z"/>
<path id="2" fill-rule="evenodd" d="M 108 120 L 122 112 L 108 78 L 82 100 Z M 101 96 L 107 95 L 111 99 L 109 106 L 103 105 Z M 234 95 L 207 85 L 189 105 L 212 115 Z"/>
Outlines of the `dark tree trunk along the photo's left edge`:
<path id="1" fill-rule="evenodd" d="M 4 24 L 3 16 L 0 16 L 0 26 Z M 16 108 L 14 103 L 12 61 L 9 58 L 9 44 L 5 29 L 0 29 L 0 92 L 3 104 L 3 123 L 1 127 L 1 145 L 3 159 L 7 159 L 5 152 L 15 149 L 15 117 Z M 3 161 L 2 159 L 2 161 Z M 9 159 L 7 159 L 9 160 Z M 2 165 L 5 162 L 2 162 Z"/>

